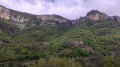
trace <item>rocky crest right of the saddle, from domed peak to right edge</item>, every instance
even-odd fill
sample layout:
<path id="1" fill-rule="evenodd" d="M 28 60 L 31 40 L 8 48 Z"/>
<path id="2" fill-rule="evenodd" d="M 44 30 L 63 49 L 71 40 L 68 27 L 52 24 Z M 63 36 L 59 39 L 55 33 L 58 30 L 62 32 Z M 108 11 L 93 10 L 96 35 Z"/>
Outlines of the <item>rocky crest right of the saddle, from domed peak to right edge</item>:
<path id="1" fill-rule="evenodd" d="M 120 17 L 119 16 L 108 16 L 103 12 L 100 12 L 98 10 L 91 10 L 90 12 L 87 13 L 85 17 L 80 17 L 79 19 L 76 20 L 76 22 L 83 22 L 86 20 L 92 20 L 92 21 L 97 21 L 97 20 L 108 20 L 108 21 L 113 21 L 113 22 L 120 22 Z"/>

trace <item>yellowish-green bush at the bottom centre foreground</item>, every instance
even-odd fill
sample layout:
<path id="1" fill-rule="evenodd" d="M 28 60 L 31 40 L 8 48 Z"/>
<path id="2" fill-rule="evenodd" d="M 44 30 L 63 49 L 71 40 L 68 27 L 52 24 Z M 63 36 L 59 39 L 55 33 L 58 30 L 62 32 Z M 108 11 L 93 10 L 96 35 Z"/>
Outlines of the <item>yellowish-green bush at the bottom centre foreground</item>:
<path id="1" fill-rule="evenodd" d="M 40 59 L 37 65 L 32 67 L 82 67 L 80 63 L 76 62 L 74 58 L 56 58 L 50 57 L 48 61 Z"/>

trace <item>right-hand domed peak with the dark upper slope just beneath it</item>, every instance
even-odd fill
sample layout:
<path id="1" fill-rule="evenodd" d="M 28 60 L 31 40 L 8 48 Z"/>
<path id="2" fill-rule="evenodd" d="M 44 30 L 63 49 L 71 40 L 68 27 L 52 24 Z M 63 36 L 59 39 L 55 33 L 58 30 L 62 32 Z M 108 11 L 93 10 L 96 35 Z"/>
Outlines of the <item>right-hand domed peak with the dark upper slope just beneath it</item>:
<path id="1" fill-rule="evenodd" d="M 89 25 L 101 25 L 105 26 L 109 23 L 111 27 L 120 27 L 120 17 L 119 16 L 108 16 L 103 12 L 98 10 L 91 10 L 87 13 L 85 17 L 81 17 L 74 22 L 74 26 L 89 26 Z"/>

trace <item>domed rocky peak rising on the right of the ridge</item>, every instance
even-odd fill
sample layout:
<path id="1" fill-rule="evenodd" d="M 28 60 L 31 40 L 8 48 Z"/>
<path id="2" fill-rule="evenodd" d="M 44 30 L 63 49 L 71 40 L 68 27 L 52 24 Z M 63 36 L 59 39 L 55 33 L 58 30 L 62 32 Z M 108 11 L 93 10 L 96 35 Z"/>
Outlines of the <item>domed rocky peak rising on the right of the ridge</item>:
<path id="1" fill-rule="evenodd" d="M 87 13 L 85 18 L 96 21 L 96 20 L 107 20 L 109 16 L 98 10 L 92 10 Z"/>

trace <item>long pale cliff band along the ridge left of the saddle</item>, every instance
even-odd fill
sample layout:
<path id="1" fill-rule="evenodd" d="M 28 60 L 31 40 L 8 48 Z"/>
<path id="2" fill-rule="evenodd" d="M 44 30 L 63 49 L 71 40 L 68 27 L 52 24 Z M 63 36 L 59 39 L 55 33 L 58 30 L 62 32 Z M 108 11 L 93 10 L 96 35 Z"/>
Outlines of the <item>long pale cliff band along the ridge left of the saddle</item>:
<path id="1" fill-rule="evenodd" d="M 42 22 L 52 20 L 60 23 L 68 22 L 69 20 L 58 15 L 32 15 L 24 12 L 7 9 L 0 6 L 0 18 L 12 20 L 16 22 L 35 22 L 41 20 Z"/>

